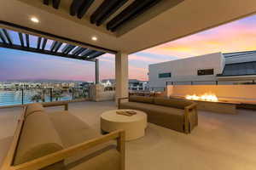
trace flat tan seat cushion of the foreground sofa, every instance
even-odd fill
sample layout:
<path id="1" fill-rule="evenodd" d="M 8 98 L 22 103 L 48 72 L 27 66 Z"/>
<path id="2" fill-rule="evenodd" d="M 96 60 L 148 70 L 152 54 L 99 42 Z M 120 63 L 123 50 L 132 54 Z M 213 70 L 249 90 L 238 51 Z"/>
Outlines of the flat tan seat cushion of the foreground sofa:
<path id="1" fill-rule="evenodd" d="M 78 117 L 68 113 L 68 111 L 49 112 L 48 115 L 61 138 L 64 148 L 102 136 L 102 134 L 88 126 Z M 72 126 L 67 126 L 70 122 L 72 122 Z M 92 157 L 93 159 L 90 159 Z M 79 156 L 68 158 L 65 160 L 65 165 L 75 170 L 87 168 L 89 170 L 119 170 L 118 162 L 119 152 L 116 150 L 116 144 L 114 142 L 108 142 L 86 150 Z"/>

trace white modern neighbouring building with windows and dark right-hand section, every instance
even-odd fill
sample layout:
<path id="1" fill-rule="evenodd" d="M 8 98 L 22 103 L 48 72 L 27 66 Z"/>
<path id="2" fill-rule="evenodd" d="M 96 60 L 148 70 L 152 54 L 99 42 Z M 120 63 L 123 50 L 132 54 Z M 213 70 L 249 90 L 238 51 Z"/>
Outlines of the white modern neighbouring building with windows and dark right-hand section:
<path id="1" fill-rule="evenodd" d="M 213 53 L 149 65 L 149 87 L 212 84 L 256 78 L 256 51 Z"/>

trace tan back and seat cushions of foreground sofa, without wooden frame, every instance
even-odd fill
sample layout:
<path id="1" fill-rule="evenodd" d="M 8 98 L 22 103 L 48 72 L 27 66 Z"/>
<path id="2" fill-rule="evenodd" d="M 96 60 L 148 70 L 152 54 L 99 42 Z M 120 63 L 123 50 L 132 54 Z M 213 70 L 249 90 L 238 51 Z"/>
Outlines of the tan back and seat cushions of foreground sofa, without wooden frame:
<path id="1" fill-rule="evenodd" d="M 27 106 L 25 115 L 14 165 L 102 136 L 68 111 L 47 113 L 41 104 L 32 104 Z M 116 142 L 110 141 L 42 169 L 119 170 L 120 157 Z"/>

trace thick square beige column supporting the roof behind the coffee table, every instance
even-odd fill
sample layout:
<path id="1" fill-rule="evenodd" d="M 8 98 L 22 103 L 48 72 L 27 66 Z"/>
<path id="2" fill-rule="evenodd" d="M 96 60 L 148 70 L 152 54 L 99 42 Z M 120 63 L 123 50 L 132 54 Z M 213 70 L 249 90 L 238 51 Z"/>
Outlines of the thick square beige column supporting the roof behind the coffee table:
<path id="1" fill-rule="evenodd" d="M 115 55 L 115 101 L 128 97 L 128 54 Z"/>

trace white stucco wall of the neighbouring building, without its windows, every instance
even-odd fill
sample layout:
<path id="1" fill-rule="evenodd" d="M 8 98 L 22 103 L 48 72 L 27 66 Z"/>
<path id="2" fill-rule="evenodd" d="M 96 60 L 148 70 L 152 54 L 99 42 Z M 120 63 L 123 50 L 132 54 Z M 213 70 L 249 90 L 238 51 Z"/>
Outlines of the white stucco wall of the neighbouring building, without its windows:
<path id="1" fill-rule="evenodd" d="M 224 56 L 221 53 L 214 53 L 149 65 L 149 86 L 164 88 L 166 82 L 215 81 L 216 75 L 222 73 L 224 69 L 224 62 Z M 212 68 L 213 75 L 197 76 L 198 70 Z M 159 78 L 160 73 L 168 72 L 172 73 L 171 78 Z"/>

